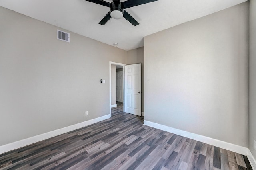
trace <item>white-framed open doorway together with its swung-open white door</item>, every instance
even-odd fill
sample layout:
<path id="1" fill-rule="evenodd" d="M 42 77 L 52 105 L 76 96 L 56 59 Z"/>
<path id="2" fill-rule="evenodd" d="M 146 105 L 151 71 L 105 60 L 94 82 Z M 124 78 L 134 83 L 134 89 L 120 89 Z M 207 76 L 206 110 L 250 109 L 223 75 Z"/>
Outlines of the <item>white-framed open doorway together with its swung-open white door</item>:
<path id="1" fill-rule="evenodd" d="M 116 70 L 117 68 L 118 70 Z M 125 113 L 141 116 L 141 63 L 126 65 L 110 62 L 109 70 L 110 116 L 111 108 L 117 106 L 118 100 L 122 101 Z M 120 76 L 120 80 L 116 77 L 117 72 Z M 122 87 L 121 90 L 117 88 L 116 80 L 123 82 L 118 84 L 118 86 Z M 120 95 L 118 96 L 119 99 L 117 98 L 117 94 Z"/>

